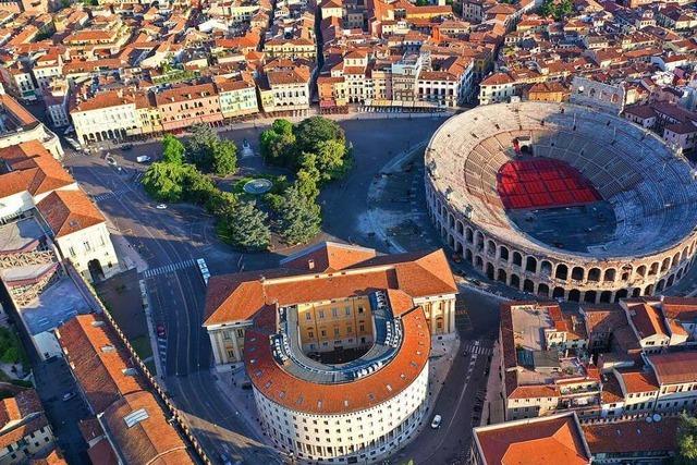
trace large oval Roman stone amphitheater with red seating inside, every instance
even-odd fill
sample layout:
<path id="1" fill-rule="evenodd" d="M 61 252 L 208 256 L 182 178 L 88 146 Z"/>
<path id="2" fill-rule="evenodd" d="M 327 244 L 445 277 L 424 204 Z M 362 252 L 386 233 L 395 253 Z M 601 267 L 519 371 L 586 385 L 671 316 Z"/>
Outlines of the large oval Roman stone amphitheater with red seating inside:
<path id="1" fill-rule="evenodd" d="M 653 295 L 694 261 L 697 188 L 653 134 L 566 103 L 475 108 L 426 149 L 429 215 L 489 279 L 575 302 Z"/>

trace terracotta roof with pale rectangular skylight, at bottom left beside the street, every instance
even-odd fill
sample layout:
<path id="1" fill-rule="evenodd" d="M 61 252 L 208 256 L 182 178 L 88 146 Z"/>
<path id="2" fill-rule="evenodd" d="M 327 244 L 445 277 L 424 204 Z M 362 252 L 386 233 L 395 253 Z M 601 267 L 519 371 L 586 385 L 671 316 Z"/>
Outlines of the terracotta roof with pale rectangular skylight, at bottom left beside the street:
<path id="1" fill-rule="evenodd" d="M 125 417 L 145 411 L 144 419 L 129 427 Z M 147 391 L 132 392 L 119 399 L 103 413 L 100 423 L 117 454 L 129 464 L 193 464 L 186 444 L 168 423 L 155 396 Z"/>

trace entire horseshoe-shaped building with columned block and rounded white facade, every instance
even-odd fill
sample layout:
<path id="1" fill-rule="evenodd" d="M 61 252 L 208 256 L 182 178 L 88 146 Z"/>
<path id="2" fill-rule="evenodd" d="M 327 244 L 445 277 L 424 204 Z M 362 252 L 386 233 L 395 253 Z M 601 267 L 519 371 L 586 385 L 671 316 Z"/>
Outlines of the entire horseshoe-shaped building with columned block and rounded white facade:
<path id="1" fill-rule="evenodd" d="M 321 243 L 280 265 L 210 279 L 216 364 L 244 363 L 266 435 L 299 463 L 381 462 L 424 421 L 431 340 L 455 330 L 445 255 Z"/>

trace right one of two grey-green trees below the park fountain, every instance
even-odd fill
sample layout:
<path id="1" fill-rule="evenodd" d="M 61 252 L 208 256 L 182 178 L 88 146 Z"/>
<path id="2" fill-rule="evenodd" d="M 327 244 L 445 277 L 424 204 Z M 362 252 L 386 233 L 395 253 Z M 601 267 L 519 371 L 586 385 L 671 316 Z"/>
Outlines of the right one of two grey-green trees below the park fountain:
<path id="1" fill-rule="evenodd" d="M 321 230 L 319 205 L 305 197 L 297 183 L 285 191 L 280 217 L 280 234 L 291 245 L 305 244 Z"/>

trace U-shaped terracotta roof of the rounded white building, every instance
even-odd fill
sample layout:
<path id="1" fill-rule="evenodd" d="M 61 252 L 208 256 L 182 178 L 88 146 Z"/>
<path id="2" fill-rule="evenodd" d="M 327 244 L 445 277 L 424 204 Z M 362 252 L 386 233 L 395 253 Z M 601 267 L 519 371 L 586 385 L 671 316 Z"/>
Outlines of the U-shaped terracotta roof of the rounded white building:
<path id="1" fill-rule="evenodd" d="M 257 321 L 257 326 L 273 325 L 273 311 L 265 314 L 268 321 Z M 404 315 L 402 325 L 404 338 L 394 358 L 348 383 L 319 384 L 290 375 L 274 360 L 268 331 L 258 328 L 245 332 L 245 367 L 255 388 L 286 408 L 318 415 L 362 411 L 395 396 L 426 368 L 430 333 L 424 310 L 418 307 Z"/>

